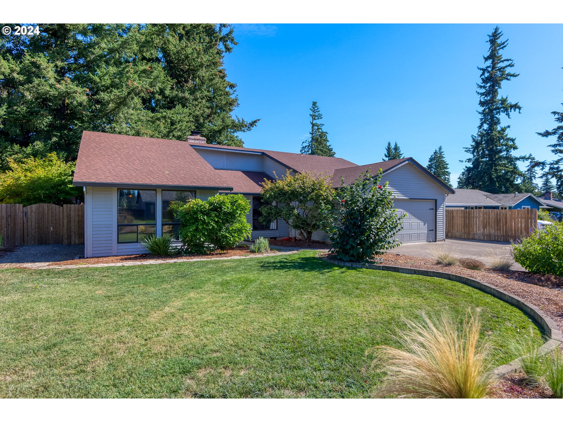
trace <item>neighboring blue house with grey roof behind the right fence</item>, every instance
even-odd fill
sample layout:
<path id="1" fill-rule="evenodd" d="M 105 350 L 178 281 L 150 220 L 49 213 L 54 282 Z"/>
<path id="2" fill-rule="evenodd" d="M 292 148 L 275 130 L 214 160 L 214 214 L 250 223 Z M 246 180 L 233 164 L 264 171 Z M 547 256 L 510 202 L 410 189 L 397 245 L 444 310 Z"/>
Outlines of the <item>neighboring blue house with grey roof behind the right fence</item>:
<path id="1" fill-rule="evenodd" d="M 457 209 L 522 209 L 546 208 L 532 194 L 489 194 L 477 189 L 454 189 L 446 196 L 446 208 Z"/>

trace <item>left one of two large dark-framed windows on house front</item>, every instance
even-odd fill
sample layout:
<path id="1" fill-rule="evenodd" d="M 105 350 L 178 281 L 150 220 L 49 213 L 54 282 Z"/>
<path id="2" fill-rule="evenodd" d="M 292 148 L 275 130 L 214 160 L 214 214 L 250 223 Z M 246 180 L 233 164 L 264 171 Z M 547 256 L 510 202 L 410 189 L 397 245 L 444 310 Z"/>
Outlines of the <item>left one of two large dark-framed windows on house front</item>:
<path id="1" fill-rule="evenodd" d="M 157 234 L 157 191 L 118 189 L 117 241 L 140 242 Z"/>

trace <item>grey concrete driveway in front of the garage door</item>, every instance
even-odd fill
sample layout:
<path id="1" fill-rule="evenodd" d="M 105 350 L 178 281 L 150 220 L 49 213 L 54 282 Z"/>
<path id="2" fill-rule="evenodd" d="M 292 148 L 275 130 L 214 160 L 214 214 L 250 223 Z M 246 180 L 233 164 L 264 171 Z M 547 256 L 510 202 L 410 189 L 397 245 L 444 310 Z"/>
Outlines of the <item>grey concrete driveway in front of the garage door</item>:
<path id="1" fill-rule="evenodd" d="M 440 248 L 453 253 L 458 258 L 474 258 L 489 264 L 497 257 L 507 257 L 513 262 L 512 270 L 525 271 L 524 268 L 512 259 L 511 247 L 508 242 L 493 242 L 486 240 L 454 240 L 446 239 L 445 242 L 437 243 L 404 243 L 398 248 L 390 250 L 390 253 L 412 255 L 413 257 L 433 258 L 432 249 Z"/>

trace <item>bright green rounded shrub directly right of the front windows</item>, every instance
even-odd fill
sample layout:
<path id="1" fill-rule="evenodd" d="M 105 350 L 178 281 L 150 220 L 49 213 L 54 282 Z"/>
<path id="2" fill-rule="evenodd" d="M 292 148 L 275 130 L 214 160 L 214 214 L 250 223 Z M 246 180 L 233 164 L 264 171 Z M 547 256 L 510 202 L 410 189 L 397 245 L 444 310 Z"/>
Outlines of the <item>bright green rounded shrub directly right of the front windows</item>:
<path id="1" fill-rule="evenodd" d="M 185 252 L 208 254 L 234 248 L 250 237 L 246 220 L 250 204 L 243 195 L 215 195 L 207 201 L 173 202 L 170 208 L 180 221 L 180 240 Z"/>

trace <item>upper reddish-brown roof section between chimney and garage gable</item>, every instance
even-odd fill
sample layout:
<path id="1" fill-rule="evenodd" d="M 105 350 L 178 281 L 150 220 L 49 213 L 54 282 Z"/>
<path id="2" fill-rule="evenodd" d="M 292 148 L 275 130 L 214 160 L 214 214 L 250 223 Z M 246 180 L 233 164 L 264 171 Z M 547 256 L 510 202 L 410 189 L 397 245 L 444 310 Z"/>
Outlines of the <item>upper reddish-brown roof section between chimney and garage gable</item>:
<path id="1" fill-rule="evenodd" d="M 296 154 L 295 152 L 259 150 L 239 146 L 213 145 L 210 143 L 190 143 L 189 145 L 194 148 L 214 150 L 261 152 L 263 155 L 266 155 L 272 160 L 284 165 L 284 167 L 296 170 L 297 172 L 324 172 L 327 174 L 332 174 L 334 172 L 334 169 L 356 165 L 352 163 L 352 161 L 338 157 L 324 157 L 320 155 Z"/>

